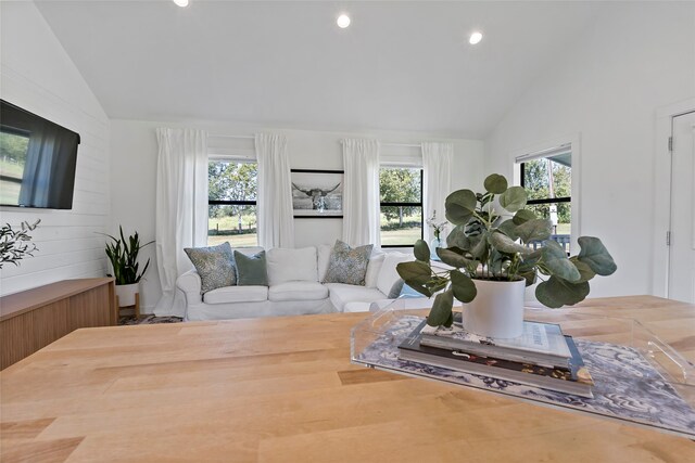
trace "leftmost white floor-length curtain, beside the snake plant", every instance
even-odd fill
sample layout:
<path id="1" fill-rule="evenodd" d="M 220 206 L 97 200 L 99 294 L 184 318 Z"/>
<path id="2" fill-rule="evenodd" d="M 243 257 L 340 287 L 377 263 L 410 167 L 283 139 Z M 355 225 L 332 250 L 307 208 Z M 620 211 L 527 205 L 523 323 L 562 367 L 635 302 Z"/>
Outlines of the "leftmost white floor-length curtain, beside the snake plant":
<path id="1" fill-rule="evenodd" d="M 156 267 L 162 284 L 157 316 L 184 316 L 176 279 L 191 268 L 185 247 L 207 244 L 207 134 L 156 129 Z"/>

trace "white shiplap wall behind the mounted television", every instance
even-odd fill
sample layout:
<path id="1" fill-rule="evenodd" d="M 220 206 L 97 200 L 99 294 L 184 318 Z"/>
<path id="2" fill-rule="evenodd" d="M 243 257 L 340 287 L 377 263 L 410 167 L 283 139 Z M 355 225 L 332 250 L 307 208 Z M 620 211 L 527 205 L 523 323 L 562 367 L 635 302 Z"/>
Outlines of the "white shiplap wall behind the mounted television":
<path id="1" fill-rule="evenodd" d="M 109 119 L 33 2 L 0 3 L 3 100 L 78 132 L 72 210 L 0 208 L 3 223 L 41 219 L 39 250 L 0 270 L 0 294 L 105 274 L 103 236 L 110 223 Z"/>

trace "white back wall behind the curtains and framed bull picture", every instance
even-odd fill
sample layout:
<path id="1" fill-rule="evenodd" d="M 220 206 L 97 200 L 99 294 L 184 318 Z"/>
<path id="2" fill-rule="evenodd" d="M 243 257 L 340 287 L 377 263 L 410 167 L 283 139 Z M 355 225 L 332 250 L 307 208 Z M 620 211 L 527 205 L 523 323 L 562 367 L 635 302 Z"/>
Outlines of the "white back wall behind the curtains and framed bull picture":
<path id="1" fill-rule="evenodd" d="M 451 141 L 454 143 L 455 162 L 452 171 L 452 188 L 473 187 L 481 183 L 483 165 L 483 143 L 477 140 L 451 140 L 427 133 L 405 132 L 327 132 L 312 130 L 286 130 L 256 127 L 243 124 L 205 123 L 173 124 L 165 121 L 118 120 L 111 121 L 111 182 L 112 222 L 124 231 L 137 230 L 143 240 L 154 239 L 154 195 L 156 179 L 157 127 L 191 127 L 210 133 L 248 136 L 258 131 L 275 131 L 288 137 L 290 166 L 295 169 L 342 170 L 342 138 L 376 138 L 383 142 L 419 143 L 426 140 Z M 230 141 L 240 149 L 253 152 L 253 140 Z M 396 150 L 383 147 L 383 150 Z M 405 149 L 408 150 L 408 149 Z M 295 246 L 333 243 L 342 236 L 341 219 L 295 219 Z M 161 288 L 154 247 L 143 249 L 142 258 L 152 259 L 150 270 L 142 285 L 142 306 L 151 311 L 156 304 Z"/>

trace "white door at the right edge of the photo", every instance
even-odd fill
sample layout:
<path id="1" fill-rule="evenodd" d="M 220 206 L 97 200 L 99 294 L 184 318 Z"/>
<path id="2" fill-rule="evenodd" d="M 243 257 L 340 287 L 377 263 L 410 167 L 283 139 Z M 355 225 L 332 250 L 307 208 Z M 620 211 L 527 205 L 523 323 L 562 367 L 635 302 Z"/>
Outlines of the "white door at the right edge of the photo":
<path id="1" fill-rule="evenodd" d="M 695 304 L 695 112 L 672 121 L 668 297 Z"/>

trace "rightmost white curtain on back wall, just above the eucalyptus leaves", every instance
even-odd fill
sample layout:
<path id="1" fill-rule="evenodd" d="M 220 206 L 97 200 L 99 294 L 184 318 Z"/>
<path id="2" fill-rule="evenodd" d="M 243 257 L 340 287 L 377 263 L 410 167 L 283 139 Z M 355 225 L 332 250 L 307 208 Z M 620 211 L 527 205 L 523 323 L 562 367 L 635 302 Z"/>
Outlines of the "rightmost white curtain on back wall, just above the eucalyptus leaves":
<path id="1" fill-rule="evenodd" d="M 452 143 L 422 143 L 422 169 L 425 170 L 422 179 L 425 220 L 427 221 L 437 211 L 437 221 L 446 220 L 444 202 L 446 196 L 452 192 L 452 162 L 454 159 L 454 145 Z M 447 227 L 442 235 L 442 240 L 446 239 L 446 234 L 451 231 Z M 431 227 L 425 226 L 425 241 L 429 243 L 434 237 L 434 231 Z"/>

